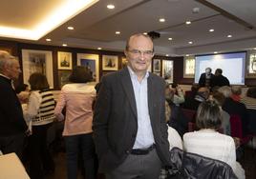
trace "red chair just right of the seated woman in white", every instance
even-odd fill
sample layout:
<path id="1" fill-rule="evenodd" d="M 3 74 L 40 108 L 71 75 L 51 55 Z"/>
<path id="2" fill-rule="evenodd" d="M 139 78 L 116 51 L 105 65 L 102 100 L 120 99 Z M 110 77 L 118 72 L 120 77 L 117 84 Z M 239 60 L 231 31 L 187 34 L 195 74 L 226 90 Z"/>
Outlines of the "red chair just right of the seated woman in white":
<path id="1" fill-rule="evenodd" d="M 248 143 L 253 138 L 253 135 L 251 134 L 243 136 L 242 121 L 239 115 L 230 115 L 230 129 L 231 136 L 239 138 L 241 145 Z"/>

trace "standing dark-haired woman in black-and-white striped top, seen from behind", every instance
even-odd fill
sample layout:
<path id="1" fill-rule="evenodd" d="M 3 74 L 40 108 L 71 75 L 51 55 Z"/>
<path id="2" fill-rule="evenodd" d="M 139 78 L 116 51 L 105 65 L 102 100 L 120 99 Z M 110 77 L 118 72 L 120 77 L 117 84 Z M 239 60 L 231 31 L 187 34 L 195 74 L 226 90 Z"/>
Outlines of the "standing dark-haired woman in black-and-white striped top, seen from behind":
<path id="1" fill-rule="evenodd" d="M 53 158 L 47 147 L 47 130 L 53 124 L 54 99 L 47 78 L 42 73 L 32 73 L 29 79 L 31 95 L 28 117 L 32 120 L 29 139 L 31 153 L 30 175 L 32 179 L 43 178 L 45 172 L 53 172 Z"/>

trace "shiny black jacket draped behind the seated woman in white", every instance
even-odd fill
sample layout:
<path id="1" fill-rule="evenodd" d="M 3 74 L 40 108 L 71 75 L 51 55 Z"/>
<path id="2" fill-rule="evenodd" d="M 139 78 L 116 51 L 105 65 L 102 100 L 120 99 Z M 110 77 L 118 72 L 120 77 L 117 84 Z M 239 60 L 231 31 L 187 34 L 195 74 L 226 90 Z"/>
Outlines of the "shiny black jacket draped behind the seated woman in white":
<path id="1" fill-rule="evenodd" d="M 173 166 L 168 169 L 167 179 L 237 179 L 231 167 L 222 161 L 178 148 L 170 153 Z"/>

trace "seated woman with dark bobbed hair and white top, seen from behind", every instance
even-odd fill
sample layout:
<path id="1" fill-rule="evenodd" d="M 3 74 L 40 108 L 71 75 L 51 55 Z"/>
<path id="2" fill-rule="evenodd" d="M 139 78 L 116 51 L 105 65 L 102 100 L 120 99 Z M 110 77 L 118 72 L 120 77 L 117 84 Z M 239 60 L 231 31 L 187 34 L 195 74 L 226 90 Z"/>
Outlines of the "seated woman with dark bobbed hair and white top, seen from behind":
<path id="1" fill-rule="evenodd" d="M 222 109 L 215 101 L 203 102 L 197 112 L 196 124 L 200 130 L 185 133 L 183 148 L 228 164 L 239 179 L 245 178 L 245 170 L 236 162 L 236 148 L 232 137 L 216 131 L 222 125 Z"/>

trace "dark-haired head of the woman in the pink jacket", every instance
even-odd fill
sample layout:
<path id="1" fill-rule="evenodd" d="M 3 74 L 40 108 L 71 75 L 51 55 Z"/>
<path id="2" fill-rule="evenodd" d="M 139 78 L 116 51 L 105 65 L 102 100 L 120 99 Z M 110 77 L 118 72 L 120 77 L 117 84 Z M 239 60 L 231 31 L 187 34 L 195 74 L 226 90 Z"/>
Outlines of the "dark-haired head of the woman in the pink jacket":
<path id="1" fill-rule="evenodd" d="M 92 81 L 92 79 L 92 72 L 83 66 L 75 67 L 69 77 L 72 83 L 87 83 Z"/>

